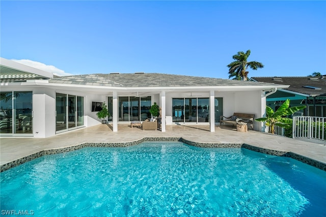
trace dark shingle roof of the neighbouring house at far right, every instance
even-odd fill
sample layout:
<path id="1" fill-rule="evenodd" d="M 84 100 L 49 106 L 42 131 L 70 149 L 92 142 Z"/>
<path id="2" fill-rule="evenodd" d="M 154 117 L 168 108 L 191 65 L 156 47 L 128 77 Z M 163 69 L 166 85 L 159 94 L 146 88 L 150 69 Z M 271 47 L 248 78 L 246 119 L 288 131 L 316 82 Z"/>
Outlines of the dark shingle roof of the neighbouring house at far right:
<path id="1" fill-rule="evenodd" d="M 291 90 L 305 95 L 326 95 L 326 77 L 252 77 L 251 80 L 275 84 L 290 85 L 286 90 Z"/>

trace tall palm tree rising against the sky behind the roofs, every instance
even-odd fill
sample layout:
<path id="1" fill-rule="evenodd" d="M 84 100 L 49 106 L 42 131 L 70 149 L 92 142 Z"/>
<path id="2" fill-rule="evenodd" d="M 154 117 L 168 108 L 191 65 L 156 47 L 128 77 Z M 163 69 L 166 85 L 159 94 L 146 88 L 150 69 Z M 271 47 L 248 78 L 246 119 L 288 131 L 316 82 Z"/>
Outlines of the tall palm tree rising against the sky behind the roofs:
<path id="1" fill-rule="evenodd" d="M 230 63 L 227 67 L 229 67 L 229 78 L 233 78 L 233 80 L 248 80 L 248 67 L 253 70 L 257 70 L 258 68 L 263 68 L 264 65 L 257 61 L 247 62 L 247 59 L 250 55 L 250 50 L 247 50 L 246 53 L 243 51 L 239 51 L 237 54 L 233 55 L 232 58 L 235 60 Z"/>

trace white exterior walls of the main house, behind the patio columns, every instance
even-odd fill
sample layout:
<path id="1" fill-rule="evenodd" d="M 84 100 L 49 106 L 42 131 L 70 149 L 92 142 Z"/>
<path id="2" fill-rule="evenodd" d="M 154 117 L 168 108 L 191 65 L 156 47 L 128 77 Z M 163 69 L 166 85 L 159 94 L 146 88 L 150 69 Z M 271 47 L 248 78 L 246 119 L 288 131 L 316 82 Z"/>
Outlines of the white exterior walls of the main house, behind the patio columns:
<path id="1" fill-rule="evenodd" d="M 101 91 L 87 92 L 58 88 L 55 87 L 33 87 L 33 86 L 17 86 L 8 85 L 2 86 L 2 91 L 33 91 L 33 135 L 36 138 L 44 138 L 56 135 L 56 93 L 74 95 L 84 97 L 84 126 L 91 127 L 100 124 L 101 120 L 97 118 L 96 113 L 92 112 L 92 102 L 105 102 L 107 104 L 107 97 L 112 96 L 112 92 Z M 172 123 L 172 99 L 173 98 L 189 98 L 191 91 L 180 90 L 166 91 L 166 117 L 167 125 Z M 209 98 L 210 91 L 192 92 L 194 98 Z M 121 95 L 118 94 L 118 96 Z M 128 94 L 124 95 L 128 96 Z M 159 94 L 153 94 L 152 104 L 156 102 L 161 106 L 161 98 Z M 265 95 L 262 90 L 251 91 L 214 91 L 215 98 L 223 98 L 223 115 L 231 116 L 233 112 L 252 113 L 255 118 L 262 117 L 265 113 Z M 187 123 L 194 124 L 194 123 Z M 207 122 L 199 124 L 208 124 Z M 254 122 L 254 129 L 257 131 L 264 131 L 262 122 Z"/>

